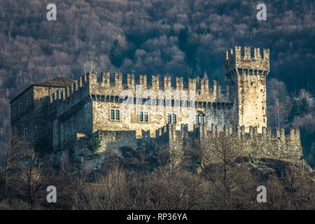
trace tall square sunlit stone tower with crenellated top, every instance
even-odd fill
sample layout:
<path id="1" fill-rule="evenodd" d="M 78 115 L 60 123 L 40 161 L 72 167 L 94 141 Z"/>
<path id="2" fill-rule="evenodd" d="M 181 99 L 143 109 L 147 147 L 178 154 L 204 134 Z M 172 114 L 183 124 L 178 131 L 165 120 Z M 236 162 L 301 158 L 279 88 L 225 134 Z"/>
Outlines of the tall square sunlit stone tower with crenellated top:
<path id="1" fill-rule="evenodd" d="M 233 102 L 234 125 L 267 127 L 266 76 L 269 73 L 269 49 L 241 47 L 224 52 L 224 73 L 230 100 Z"/>

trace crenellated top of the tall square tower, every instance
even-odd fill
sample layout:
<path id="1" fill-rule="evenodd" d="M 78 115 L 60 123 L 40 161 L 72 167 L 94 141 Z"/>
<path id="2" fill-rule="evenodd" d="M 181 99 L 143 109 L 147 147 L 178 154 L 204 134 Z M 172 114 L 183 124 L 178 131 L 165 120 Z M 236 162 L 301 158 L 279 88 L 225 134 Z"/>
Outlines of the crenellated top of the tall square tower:
<path id="1" fill-rule="evenodd" d="M 253 48 L 253 53 L 251 51 L 250 47 L 241 48 L 239 46 L 226 50 L 223 53 L 225 73 L 235 70 L 237 72 L 246 71 L 248 75 L 267 75 L 270 70 L 269 49 L 263 48 L 262 54 L 260 48 Z"/>

